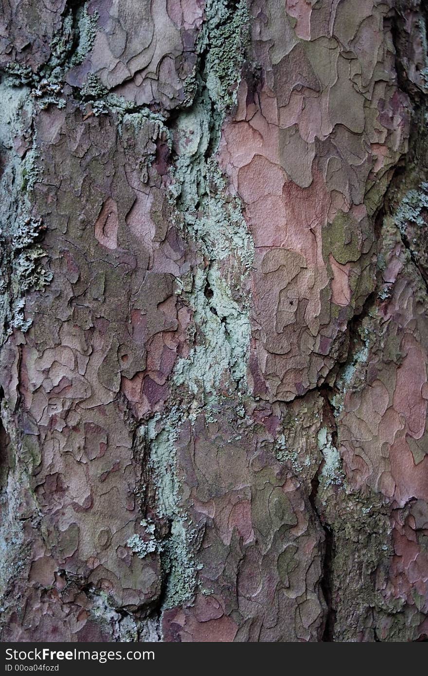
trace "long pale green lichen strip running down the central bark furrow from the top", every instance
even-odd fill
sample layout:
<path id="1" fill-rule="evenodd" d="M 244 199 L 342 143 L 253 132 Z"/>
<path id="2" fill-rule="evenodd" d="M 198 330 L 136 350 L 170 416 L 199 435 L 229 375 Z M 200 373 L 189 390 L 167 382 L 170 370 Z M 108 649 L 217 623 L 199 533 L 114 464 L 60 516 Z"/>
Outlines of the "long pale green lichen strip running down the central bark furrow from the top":
<path id="1" fill-rule="evenodd" d="M 156 514 L 170 523 L 170 532 L 162 541 L 154 532 L 153 537 L 134 536 L 128 541 L 139 556 L 145 555 L 147 542 L 160 554 L 165 579 L 162 610 L 193 597 L 200 567 L 192 544 L 197 533 L 181 505 L 175 450 L 179 429 L 183 420 L 193 423 L 201 412 L 214 419 L 222 389 L 230 387 L 239 400 L 236 389 L 245 379 L 249 350 L 249 299 L 243 289 L 254 244 L 241 203 L 229 191 L 215 159 L 225 112 L 236 100 L 247 10 L 245 2 L 233 11 L 223 0 L 208 0 L 205 11 L 199 52 L 207 47 L 206 68 L 203 74 L 194 74 L 192 105 L 176 118 L 169 192 L 172 220 L 183 237 L 196 245 L 200 261 L 193 274 L 176 283 L 177 295 L 193 310 L 188 336 L 193 349 L 187 358 L 178 360 L 172 373 L 172 383 L 187 390 L 188 401 L 187 407 L 181 404 L 162 416 L 153 416 L 138 435 L 147 449 Z M 132 111 L 126 110 L 127 103 L 119 104 L 118 97 L 112 99 L 95 78 L 89 79 L 82 95 L 91 101 L 95 114 L 110 110 L 122 123 L 130 121 L 127 114 Z M 135 122 L 138 133 L 141 118 Z M 244 408 L 241 416 L 245 416 Z"/>

